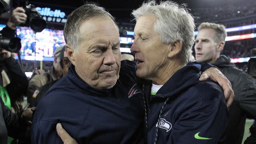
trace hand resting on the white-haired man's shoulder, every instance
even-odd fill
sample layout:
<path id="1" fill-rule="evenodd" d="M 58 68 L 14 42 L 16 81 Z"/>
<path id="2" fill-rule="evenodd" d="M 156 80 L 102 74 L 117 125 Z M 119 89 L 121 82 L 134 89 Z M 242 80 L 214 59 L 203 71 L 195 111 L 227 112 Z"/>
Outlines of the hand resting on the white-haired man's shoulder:
<path id="1" fill-rule="evenodd" d="M 235 97 L 230 81 L 220 72 L 220 70 L 213 67 L 208 68 L 206 71 L 204 71 L 199 78 L 200 81 L 204 81 L 207 79 L 211 79 L 220 84 L 220 86 L 224 90 L 227 107 L 229 108 Z"/>

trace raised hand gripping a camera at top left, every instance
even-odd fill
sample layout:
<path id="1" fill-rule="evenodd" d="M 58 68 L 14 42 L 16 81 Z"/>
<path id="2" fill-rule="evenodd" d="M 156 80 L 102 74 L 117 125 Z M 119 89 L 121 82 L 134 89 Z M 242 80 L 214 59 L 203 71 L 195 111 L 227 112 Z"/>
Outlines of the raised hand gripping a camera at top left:
<path id="1" fill-rule="evenodd" d="M 27 20 L 25 10 L 21 7 L 15 8 L 12 11 L 12 15 L 7 22 L 7 26 L 13 30 L 16 30 L 16 26 L 24 24 Z"/>

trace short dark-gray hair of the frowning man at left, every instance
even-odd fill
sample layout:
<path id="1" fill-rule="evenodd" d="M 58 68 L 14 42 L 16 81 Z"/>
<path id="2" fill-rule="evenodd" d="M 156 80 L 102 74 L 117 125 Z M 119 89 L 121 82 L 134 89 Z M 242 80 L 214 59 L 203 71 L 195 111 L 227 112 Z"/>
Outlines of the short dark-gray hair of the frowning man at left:
<path id="1" fill-rule="evenodd" d="M 79 44 L 82 42 L 80 34 L 80 25 L 91 18 L 104 18 L 110 17 L 116 24 L 113 16 L 102 10 L 94 4 L 85 4 L 74 10 L 69 16 L 64 26 L 64 39 L 66 44 L 70 45 L 76 51 L 79 49 Z M 117 26 L 117 25 L 116 25 Z M 118 26 L 117 26 L 118 30 Z"/>

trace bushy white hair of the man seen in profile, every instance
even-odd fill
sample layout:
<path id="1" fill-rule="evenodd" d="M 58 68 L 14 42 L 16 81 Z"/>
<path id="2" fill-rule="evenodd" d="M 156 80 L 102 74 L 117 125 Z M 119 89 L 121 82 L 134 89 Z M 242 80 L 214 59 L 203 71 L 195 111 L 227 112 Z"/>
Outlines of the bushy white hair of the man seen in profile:
<path id="1" fill-rule="evenodd" d="M 170 44 L 178 40 L 182 41 L 183 46 L 178 58 L 183 64 L 186 64 L 195 41 L 194 18 L 188 12 L 186 4 L 178 5 L 172 1 L 156 4 L 153 0 L 142 4 L 140 8 L 132 12 L 135 20 L 148 14 L 153 14 L 157 18 L 154 30 L 160 34 L 161 42 Z"/>

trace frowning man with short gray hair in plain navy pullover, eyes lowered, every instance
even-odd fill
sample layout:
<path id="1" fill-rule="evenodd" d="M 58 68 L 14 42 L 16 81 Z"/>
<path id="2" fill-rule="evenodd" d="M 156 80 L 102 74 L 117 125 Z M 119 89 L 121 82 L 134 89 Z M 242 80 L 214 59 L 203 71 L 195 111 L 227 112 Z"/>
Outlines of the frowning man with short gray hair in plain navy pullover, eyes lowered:
<path id="1" fill-rule="evenodd" d="M 68 17 L 64 37 L 72 65 L 38 104 L 32 143 L 61 144 L 58 122 L 81 144 L 144 143 L 146 102 L 136 84 L 135 62 L 120 63 L 113 17 L 94 5 L 81 6 Z M 193 68 L 198 81 L 200 65 Z"/>

